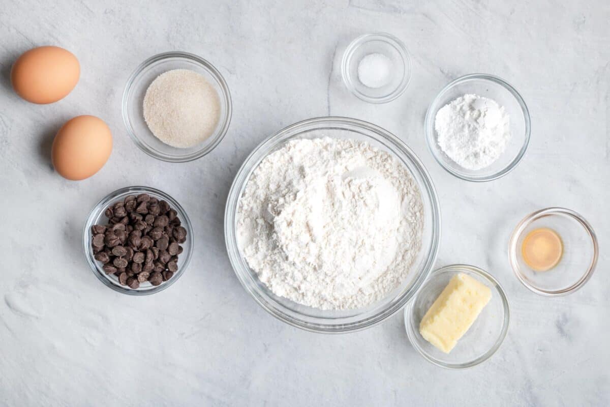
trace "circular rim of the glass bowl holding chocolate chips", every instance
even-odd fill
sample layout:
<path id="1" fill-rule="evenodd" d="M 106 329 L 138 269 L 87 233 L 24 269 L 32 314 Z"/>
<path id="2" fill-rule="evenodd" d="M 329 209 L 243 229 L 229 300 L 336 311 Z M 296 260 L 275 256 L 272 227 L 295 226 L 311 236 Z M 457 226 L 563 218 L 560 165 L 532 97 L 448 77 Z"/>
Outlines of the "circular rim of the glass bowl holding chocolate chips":
<path id="1" fill-rule="evenodd" d="M 184 262 L 182 262 L 181 266 L 179 267 L 178 272 L 174 273 L 173 278 L 171 278 L 169 281 L 164 281 L 159 286 L 156 286 L 156 287 L 152 286 L 150 289 L 146 289 L 146 290 L 134 290 L 134 289 L 130 289 L 129 287 L 117 286 L 117 284 L 113 284 L 112 282 L 110 282 L 110 278 L 106 274 L 103 274 L 98 270 L 97 265 L 96 265 L 96 260 L 93 258 L 93 250 L 91 250 L 91 242 L 87 238 L 88 232 L 90 231 L 91 226 L 94 225 L 93 219 L 96 218 L 99 213 L 103 213 L 103 211 L 112 201 L 117 200 L 117 196 L 123 195 L 124 193 L 130 193 L 130 194 L 134 194 L 134 195 L 136 195 L 137 193 L 151 193 L 156 196 L 161 196 L 163 198 L 163 200 L 167 201 L 170 204 L 170 206 L 173 209 L 175 209 L 176 212 L 178 212 L 178 216 L 180 217 L 182 226 L 184 226 L 184 228 L 187 229 L 187 236 L 189 236 L 188 247 L 187 247 L 187 250 L 185 250 L 187 255 L 184 258 Z M 91 268 L 91 272 L 93 272 L 93 274 L 99 279 L 99 281 L 104 283 L 105 286 L 107 286 L 117 292 L 120 292 L 121 294 L 127 294 L 127 295 L 155 294 L 157 292 L 167 289 L 172 284 L 176 283 L 176 281 L 178 281 L 178 279 L 184 274 L 184 272 L 188 268 L 188 264 L 190 263 L 190 259 L 193 255 L 193 226 L 190 222 L 190 219 L 188 218 L 187 212 L 184 211 L 184 208 L 178 203 L 178 201 L 174 200 L 174 198 L 172 198 L 167 193 L 165 193 L 161 190 L 158 190 L 158 189 L 155 189 L 152 187 L 146 187 L 143 185 L 133 185 L 131 187 L 123 187 L 123 188 L 114 190 L 113 192 L 110 192 L 108 195 L 104 196 L 104 198 L 99 200 L 98 203 L 96 203 L 95 206 L 93 206 L 93 209 L 91 209 L 91 211 L 87 215 L 87 219 L 85 220 L 85 225 L 83 226 L 83 230 L 82 230 L 82 250 L 83 250 L 83 254 L 85 256 L 85 261 L 87 261 L 87 264 Z"/>

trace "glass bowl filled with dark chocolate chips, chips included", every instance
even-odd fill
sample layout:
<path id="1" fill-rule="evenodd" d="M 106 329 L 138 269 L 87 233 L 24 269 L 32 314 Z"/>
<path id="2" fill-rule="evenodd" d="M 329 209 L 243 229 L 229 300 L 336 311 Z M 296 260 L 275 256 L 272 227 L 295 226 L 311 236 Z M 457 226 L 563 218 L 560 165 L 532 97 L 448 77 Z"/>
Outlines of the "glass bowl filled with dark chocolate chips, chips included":
<path id="1" fill-rule="evenodd" d="M 83 231 L 85 258 L 106 286 L 147 295 L 171 286 L 193 251 L 188 216 L 170 195 L 126 187 L 99 201 Z"/>

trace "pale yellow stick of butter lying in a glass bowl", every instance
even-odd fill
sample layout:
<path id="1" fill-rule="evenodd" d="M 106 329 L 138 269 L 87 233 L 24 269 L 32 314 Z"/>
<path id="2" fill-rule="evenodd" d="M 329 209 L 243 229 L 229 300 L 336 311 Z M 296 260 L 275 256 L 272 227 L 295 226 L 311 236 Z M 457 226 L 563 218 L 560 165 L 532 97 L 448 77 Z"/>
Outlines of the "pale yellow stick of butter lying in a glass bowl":
<path id="1" fill-rule="evenodd" d="M 454 275 L 420 322 L 420 334 L 445 353 L 458 343 L 492 298 L 492 291 L 471 276 Z"/>

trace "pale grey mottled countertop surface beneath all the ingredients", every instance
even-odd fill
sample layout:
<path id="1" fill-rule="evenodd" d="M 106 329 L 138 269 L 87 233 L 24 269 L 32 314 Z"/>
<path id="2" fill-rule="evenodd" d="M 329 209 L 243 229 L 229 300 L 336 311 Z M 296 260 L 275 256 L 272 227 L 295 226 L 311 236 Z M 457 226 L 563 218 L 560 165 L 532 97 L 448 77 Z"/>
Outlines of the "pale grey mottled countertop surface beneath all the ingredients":
<path id="1" fill-rule="evenodd" d="M 607 1 L 129 3 L 0 7 L 0 405 L 610 404 Z M 374 31 L 401 38 L 413 64 L 406 93 L 382 105 L 348 93 L 339 70 L 346 45 Z M 62 46 L 81 62 L 74 91 L 46 106 L 18 98 L 8 79 L 16 57 L 39 45 Z M 223 142 L 188 164 L 142 153 L 120 112 L 132 70 L 172 50 L 215 64 L 233 99 Z M 482 184 L 449 175 L 423 136 L 431 99 L 473 72 L 511 82 L 533 123 L 525 159 Z M 54 172 L 50 146 L 81 114 L 109 124 L 114 149 L 93 178 L 71 182 Z M 509 333 L 489 361 L 459 372 L 433 366 L 409 344 L 401 314 L 359 333 L 307 333 L 242 289 L 223 239 L 232 179 L 272 132 L 323 115 L 379 124 L 422 159 L 442 207 L 437 265 L 478 265 L 509 296 Z M 107 289 L 81 248 L 91 207 L 136 184 L 174 196 L 195 228 L 187 273 L 148 297 Z M 597 272 L 567 297 L 529 292 L 508 264 L 512 228 L 547 206 L 580 212 L 600 240 Z"/>

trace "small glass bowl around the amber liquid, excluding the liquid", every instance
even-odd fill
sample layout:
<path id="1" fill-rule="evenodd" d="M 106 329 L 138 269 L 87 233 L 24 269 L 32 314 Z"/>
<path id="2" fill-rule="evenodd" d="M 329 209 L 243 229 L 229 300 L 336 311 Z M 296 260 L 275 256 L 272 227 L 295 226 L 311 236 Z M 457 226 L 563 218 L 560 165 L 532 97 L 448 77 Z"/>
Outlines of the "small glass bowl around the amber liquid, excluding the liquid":
<path id="1" fill-rule="evenodd" d="M 537 228 L 550 228 L 559 234 L 563 254 L 559 263 L 546 272 L 536 272 L 523 261 L 521 248 L 527 234 Z M 512 232 L 508 258 L 519 281 L 536 294 L 567 295 L 584 286 L 595 271 L 599 250 L 589 223 L 570 209 L 549 207 L 529 214 Z"/>

